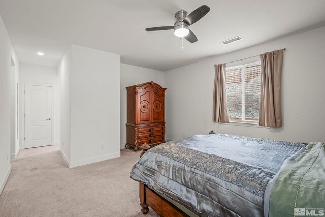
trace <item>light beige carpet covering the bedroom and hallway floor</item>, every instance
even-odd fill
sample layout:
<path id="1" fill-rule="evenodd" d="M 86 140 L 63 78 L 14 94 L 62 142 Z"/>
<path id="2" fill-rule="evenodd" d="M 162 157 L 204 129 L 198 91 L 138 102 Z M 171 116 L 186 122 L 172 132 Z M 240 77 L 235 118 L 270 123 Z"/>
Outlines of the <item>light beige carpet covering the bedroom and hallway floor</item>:
<path id="1" fill-rule="evenodd" d="M 140 153 L 69 169 L 57 146 L 21 150 L 0 195 L 0 216 L 145 216 L 129 171 Z M 147 216 L 158 216 L 150 209 Z"/>

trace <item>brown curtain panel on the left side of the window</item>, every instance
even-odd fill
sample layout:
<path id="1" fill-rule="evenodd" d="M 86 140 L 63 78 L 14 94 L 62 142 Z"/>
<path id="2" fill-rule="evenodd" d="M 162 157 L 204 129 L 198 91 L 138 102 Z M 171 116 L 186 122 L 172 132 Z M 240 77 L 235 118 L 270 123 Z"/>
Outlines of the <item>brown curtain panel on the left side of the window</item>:
<path id="1" fill-rule="evenodd" d="M 214 65 L 214 68 L 213 121 L 218 123 L 229 123 L 225 83 L 225 64 Z"/>

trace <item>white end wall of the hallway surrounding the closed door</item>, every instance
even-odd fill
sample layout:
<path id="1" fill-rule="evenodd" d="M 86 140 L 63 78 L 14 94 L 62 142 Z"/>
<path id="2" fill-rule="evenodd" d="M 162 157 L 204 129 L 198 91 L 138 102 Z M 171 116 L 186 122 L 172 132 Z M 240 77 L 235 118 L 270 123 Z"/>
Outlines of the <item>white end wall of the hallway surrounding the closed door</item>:
<path id="1" fill-rule="evenodd" d="M 42 57 L 40 57 L 42 58 Z M 55 67 L 46 67 L 39 65 L 20 64 L 19 70 L 20 89 L 22 90 L 24 84 L 41 84 L 52 85 L 54 95 L 53 105 L 53 141 L 55 145 L 60 142 L 60 78 L 57 75 Z M 24 137 L 24 118 L 23 118 L 23 102 L 21 97 L 20 103 L 20 141 L 23 142 Z"/>

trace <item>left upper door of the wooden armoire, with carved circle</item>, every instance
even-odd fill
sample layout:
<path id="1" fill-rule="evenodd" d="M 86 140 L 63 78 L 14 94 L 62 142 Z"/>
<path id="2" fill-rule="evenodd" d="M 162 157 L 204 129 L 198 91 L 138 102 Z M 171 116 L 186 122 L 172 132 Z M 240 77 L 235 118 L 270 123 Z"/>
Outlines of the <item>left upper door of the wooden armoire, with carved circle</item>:
<path id="1" fill-rule="evenodd" d="M 140 92 L 139 95 L 139 103 L 138 103 L 138 123 L 149 123 L 151 119 L 151 97 L 150 90 L 145 90 Z"/>

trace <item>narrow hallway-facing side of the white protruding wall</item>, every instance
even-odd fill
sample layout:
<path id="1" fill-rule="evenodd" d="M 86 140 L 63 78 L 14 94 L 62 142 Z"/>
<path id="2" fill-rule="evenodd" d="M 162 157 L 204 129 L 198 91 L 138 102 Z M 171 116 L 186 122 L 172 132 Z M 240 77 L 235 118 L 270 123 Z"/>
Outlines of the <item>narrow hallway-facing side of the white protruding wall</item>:
<path id="1" fill-rule="evenodd" d="M 71 46 L 64 54 L 57 67 L 60 78 L 60 150 L 64 161 L 70 164 L 70 80 L 71 80 Z"/>

